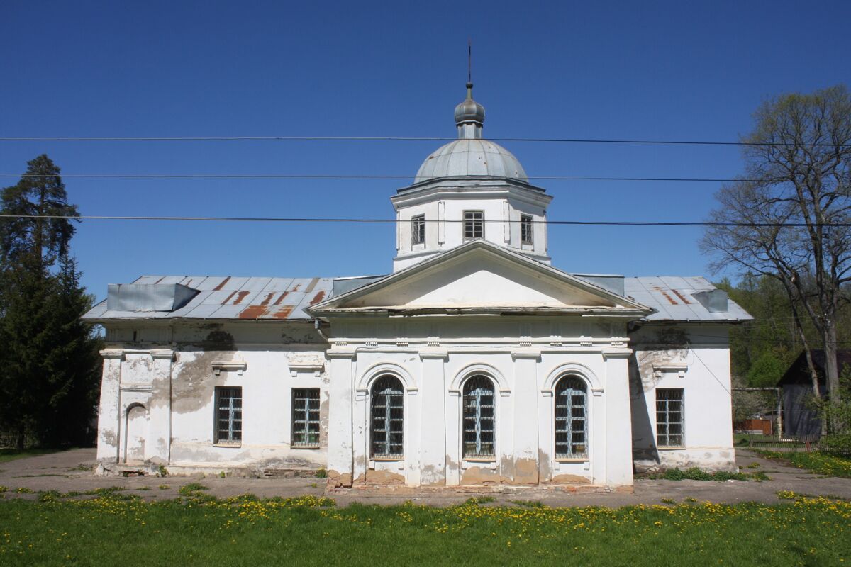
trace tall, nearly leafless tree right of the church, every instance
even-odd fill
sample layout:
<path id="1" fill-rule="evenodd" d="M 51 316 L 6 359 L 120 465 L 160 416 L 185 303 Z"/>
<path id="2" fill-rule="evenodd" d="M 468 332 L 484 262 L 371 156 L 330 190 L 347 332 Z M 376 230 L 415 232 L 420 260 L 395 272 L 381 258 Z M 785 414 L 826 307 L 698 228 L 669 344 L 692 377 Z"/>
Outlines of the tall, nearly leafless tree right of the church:
<path id="1" fill-rule="evenodd" d="M 785 94 L 763 103 L 742 141 L 745 173 L 717 193 L 720 207 L 701 247 L 711 268 L 735 268 L 779 280 L 791 302 L 820 398 L 812 322 L 825 350 L 831 405 L 840 402 L 837 315 L 851 281 L 851 96 L 844 85 Z"/>

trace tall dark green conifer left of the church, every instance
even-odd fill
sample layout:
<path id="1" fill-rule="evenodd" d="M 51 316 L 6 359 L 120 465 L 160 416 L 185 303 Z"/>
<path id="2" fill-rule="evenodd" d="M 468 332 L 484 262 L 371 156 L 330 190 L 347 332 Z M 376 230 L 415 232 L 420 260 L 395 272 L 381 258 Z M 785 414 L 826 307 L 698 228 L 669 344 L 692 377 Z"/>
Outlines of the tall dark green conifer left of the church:
<path id="1" fill-rule="evenodd" d="M 77 207 L 48 156 L 2 194 L 0 431 L 38 445 L 82 443 L 94 416 L 100 343 L 80 316 L 91 298 L 69 255 Z"/>

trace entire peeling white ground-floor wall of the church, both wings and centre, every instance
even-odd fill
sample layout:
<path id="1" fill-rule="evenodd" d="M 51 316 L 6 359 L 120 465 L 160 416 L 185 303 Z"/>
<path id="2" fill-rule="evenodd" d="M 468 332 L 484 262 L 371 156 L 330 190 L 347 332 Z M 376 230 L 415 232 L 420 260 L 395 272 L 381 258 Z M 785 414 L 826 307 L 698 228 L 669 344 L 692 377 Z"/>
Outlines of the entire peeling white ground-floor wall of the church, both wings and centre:
<path id="1" fill-rule="evenodd" d="M 146 325 L 108 332 L 104 463 L 327 467 L 336 485 L 629 486 L 633 459 L 638 470 L 734 468 L 723 326 L 648 325 L 626 337 L 622 321 L 591 317 L 341 318 L 328 345 L 306 323 Z M 369 388 L 386 374 L 405 390 L 400 460 L 369 452 Z M 474 374 L 496 384 L 489 460 L 462 456 L 461 390 Z M 573 461 L 554 448 L 553 388 L 566 374 L 585 381 L 588 400 L 588 456 Z M 242 388 L 238 447 L 214 445 L 216 386 Z M 290 446 L 293 388 L 320 390 L 319 448 Z M 682 448 L 656 447 L 657 388 L 683 388 Z"/>

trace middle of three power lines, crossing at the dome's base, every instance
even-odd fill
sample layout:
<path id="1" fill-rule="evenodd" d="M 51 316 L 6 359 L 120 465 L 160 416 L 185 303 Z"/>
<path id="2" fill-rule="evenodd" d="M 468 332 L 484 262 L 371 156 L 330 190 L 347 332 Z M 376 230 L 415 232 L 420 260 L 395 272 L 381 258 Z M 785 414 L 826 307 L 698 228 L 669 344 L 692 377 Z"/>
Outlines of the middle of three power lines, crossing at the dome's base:
<path id="1" fill-rule="evenodd" d="M 43 173 L 0 173 L 0 178 L 74 178 L 74 179 L 416 179 L 415 175 L 357 175 L 337 173 L 61 173 L 49 175 Z M 731 179 L 696 177 L 584 177 L 575 175 L 537 175 L 526 179 L 550 181 L 673 181 L 680 183 L 726 183 L 740 181 L 745 183 L 789 183 L 795 179 Z M 806 179 L 798 181 L 806 182 Z M 819 183 L 851 183 L 848 179 L 820 179 Z"/>

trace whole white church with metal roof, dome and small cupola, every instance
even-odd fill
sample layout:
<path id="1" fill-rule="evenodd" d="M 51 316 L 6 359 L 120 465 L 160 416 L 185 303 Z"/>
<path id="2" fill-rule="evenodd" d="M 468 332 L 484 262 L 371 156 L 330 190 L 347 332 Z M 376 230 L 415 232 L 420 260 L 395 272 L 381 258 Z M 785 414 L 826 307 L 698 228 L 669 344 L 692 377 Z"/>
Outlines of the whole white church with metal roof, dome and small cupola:
<path id="1" fill-rule="evenodd" d="M 552 196 L 483 139 L 470 83 L 454 118 L 391 196 L 390 275 L 109 286 L 84 315 L 106 329 L 101 473 L 628 489 L 735 468 L 728 328 L 751 316 L 700 276 L 554 268 Z"/>

